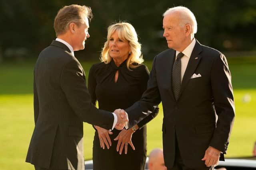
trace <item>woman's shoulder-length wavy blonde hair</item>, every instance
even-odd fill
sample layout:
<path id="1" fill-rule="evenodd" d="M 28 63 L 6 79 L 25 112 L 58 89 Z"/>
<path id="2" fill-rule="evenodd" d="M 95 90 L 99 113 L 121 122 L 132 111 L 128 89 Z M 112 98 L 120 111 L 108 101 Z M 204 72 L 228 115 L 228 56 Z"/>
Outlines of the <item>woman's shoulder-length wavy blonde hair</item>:
<path id="1" fill-rule="evenodd" d="M 141 44 L 138 42 L 134 27 L 127 22 L 114 23 L 108 27 L 107 41 L 102 48 L 100 61 L 108 64 L 112 60 L 109 55 L 109 41 L 114 32 L 118 34 L 120 39 L 126 39 L 129 42 L 131 53 L 126 62 L 127 68 L 130 70 L 130 68 L 136 68 L 139 64 L 142 64 L 144 60 L 141 54 Z"/>

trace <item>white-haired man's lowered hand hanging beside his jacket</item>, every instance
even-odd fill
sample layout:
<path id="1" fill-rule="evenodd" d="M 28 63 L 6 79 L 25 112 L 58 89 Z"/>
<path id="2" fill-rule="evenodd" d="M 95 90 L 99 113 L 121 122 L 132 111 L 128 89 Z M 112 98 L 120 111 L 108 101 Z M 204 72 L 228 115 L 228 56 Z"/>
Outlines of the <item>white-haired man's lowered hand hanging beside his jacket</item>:
<path id="1" fill-rule="evenodd" d="M 204 164 L 206 164 L 206 166 L 213 166 L 217 164 L 219 158 L 220 158 L 220 150 L 209 146 L 208 149 L 206 149 L 204 158 L 202 158 L 202 160 L 205 160 Z"/>

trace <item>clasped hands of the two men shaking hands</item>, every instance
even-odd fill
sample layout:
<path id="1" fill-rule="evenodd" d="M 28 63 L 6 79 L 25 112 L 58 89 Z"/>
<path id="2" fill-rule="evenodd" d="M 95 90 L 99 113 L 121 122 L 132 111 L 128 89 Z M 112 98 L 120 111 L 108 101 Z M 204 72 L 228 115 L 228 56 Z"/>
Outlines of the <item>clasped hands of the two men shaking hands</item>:
<path id="1" fill-rule="evenodd" d="M 129 119 L 128 114 L 123 109 L 116 109 L 114 114 L 117 116 L 117 122 L 115 128 L 118 130 L 124 129 L 124 126 L 127 125 Z"/>

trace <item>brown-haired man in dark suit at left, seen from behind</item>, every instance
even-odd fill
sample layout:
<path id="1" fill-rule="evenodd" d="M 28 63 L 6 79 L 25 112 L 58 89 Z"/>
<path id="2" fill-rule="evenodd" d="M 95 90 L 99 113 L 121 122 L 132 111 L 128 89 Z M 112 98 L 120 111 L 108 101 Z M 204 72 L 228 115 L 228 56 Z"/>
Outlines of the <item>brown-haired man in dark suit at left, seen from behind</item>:
<path id="1" fill-rule="evenodd" d="M 83 121 L 105 129 L 123 129 L 124 110 L 97 109 L 86 88 L 84 70 L 74 57 L 88 33 L 90 7 L 64 6 L 54 20 L 57 38 L 34 68 L 35 127 L 26 162 L 36 170 L 84 170 Z"/>

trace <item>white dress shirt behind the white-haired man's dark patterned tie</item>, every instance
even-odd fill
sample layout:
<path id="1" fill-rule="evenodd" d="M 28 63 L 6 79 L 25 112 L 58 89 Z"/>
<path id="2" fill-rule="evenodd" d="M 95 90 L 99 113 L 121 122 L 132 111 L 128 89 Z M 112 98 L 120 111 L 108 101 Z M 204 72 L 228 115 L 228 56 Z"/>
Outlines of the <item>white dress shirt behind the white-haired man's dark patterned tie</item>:
<path id="1" fill-rule="evenodd" d="M 184 54 L 184 56 L 180 59 L 181 62 L 181 72 L 180 72 L 180 81 L 182 82 L 182 78 L 184 76 L 184 73 L 186 71 L 186 68 L 188 66 L 188 61 L 190 59 L 191 53 L 194 49 L 196 45 L 196 39 L 194 38 L 192 40 L 192 42 L 190 43 L 190 45 L 188 45 L 188 47 L 186 47 L 186 49 L 184 49 L 181 53 Z M 177 55 L 178 53 L 180 53 L 180 51 L 176 51 L 176 59 L 177 59 Z"/>

